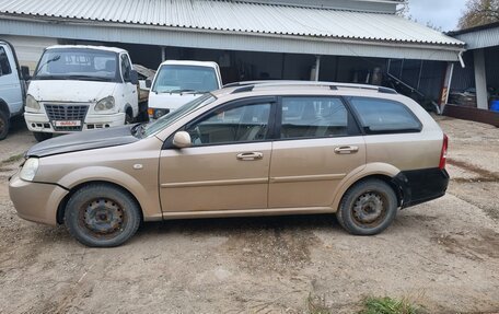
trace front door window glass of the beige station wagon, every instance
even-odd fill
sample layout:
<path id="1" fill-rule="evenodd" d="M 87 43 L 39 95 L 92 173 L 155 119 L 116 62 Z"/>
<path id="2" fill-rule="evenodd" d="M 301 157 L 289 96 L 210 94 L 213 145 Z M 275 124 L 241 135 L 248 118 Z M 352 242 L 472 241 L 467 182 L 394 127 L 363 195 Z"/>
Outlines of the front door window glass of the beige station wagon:
<path id="1" fill-rule="evenodd" d="M 193 146 L 255 142 L 267 138 L 270 103 L 221 108 L 185 128 Z"/>

